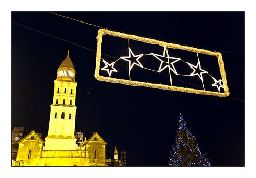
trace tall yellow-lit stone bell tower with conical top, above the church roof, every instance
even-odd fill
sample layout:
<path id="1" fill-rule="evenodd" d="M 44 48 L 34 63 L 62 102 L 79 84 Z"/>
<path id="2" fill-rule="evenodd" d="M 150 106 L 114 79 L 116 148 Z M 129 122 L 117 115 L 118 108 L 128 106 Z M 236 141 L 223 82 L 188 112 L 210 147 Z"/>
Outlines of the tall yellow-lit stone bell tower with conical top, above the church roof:
<path id="1" fill-rule="evenodd" d="M 45 150 L 75 150 L 76 86 L 75 69 L 69 57 L 62 61 L 54 80 L 53 101 L 50 106 Z"/>

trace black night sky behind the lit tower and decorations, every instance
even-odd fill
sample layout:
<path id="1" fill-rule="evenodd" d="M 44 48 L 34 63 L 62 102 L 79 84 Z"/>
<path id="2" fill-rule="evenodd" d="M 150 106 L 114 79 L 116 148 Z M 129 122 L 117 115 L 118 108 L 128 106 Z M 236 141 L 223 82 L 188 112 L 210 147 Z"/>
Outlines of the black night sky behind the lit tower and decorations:
<path id="1" fill-rule="evenodd" d="M 221 52 L 230 96 L 98 81 L 94 71 L 99 27 L 51 12 L 12 12 L 11 129 L 24 126 L 25 135 L 40 130 L 43 138 L 47 136 L 54 80 L 69 49 L 78 82 L 75 128 L 87 139 L 98 132 L 108 143 L 108 158 L 113 157 L 116 146 L 119 152 L 126 150 L 127 166 L 168 166 L 182 113 L 201 151 L 211 157 L 212 166 L 244 166 L 244 12 L 56 13 L 109 30 Z M 103 37 L 103 44 L 103 58 L 118 58 L 116 52 L 127 56 L 127 42 L 116 45 Z M 139 53 L 140 44 L 130 41 L 130 46 Z M 171 49 L 169 53 L 173 54 Z M 176 55 L 189 56 L 185 52 Z M 206 61 L 204 69 L 218 73 L 215 65 L 217 60 Z M 136 72 L 133 76 L 141 75 Z M 175 76 L 173 80 L 178 86 L 197 85 Z"/>

